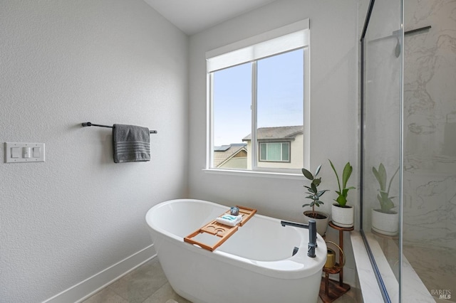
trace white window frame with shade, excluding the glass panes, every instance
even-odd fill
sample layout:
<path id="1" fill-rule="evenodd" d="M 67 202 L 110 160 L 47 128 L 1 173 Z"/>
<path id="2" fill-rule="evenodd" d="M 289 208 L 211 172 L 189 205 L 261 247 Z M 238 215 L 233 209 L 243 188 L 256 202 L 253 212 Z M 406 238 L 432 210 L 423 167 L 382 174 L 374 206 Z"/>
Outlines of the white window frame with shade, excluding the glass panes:
<path id="1" fill-rule="evenodd" d="M 206 170 L 208 171 L 229 171 L 230 169 L 215 169 L 212 168 L 214 155 L 214 139 L 213 139 L 213 107 L 212 107 L 212 92 L 213 92 L 213 75 L 217 70 L 229 68 L 242 63 L 252 62 L 256 65 L 256 61 L 261 58 L 267 58 L 271 55 L 279 55 L 291 50 L 304 50 L 304 167 L 309 167 L 310 164 L 310 29 L 309 19 L 304 19 L 295 23 L 291 23 L 281 28 L 276 28 L 266 33 L 253 36 L 242 41 L 222 46 L 214 50 L 209 50 L 206 53 L 207 60 L 207 156 Z M 256 70 L 256 68 L 254 68 Z M 252 75 L 252 85 L 256 85 L 256 73 Z M 273 169 L 258 167 L 259 144 L 257 142 L 257 104 L 255 96 L 256 87 L 254 87 L 254 96 L 252 96 L 252 169 L 236 170 L 237 172 L 272 172 L 283 174 L 301 174 L 301 169 Z M 291 149 L 291 148 L 290 148 Z M 291 158 L 291 152 L 290 152 Z"/>

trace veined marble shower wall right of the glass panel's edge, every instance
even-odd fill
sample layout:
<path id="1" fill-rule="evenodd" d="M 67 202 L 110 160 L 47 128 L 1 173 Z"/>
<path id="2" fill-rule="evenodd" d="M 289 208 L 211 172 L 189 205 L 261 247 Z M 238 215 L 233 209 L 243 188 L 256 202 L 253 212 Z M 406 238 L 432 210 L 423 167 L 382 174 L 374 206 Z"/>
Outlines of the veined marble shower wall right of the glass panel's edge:
<path id="1" fill-rule="evenodd" d="M 404 5 L 403 240 L 456 249 L 456 1 Z"/>

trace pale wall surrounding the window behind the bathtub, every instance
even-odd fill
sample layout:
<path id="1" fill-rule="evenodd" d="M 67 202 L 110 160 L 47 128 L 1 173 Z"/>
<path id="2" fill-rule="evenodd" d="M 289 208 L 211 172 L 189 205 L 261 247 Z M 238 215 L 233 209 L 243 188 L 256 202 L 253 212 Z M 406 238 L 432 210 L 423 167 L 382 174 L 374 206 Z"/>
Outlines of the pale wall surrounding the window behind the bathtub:
<path id="1" fill-rule="evenodd" d="M 336 178 L 328 159 L 340 170 L 346 161 L 351 161 L 351 181 L 356 186 L 358 1 L 279 0 L 190 37 L 191 198 L 226 205 L 240 203 L 257 208 L 266 216 L 303 220 L 304 176 L 274 179 L 202 171 L 206 159 L 205 52 L 303 18 L 310 18 L 311 28 L 310 169 L 314 171 L 323 164 L 321 188 L 333 190 Z M 331 211 L 333 198 L 333 191 L 323 196 L 323 211 Z M 348 198 L 352 205 L 358 205 L 356 191 L 351 191 Z M 353 263 L 350 266 L 354 268 Z"/>

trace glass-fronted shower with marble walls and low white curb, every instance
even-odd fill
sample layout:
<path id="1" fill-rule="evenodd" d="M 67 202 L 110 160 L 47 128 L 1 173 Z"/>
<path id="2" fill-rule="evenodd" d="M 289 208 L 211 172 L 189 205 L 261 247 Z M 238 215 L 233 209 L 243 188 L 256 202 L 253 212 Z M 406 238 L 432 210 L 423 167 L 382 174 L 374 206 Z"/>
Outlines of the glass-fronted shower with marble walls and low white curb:
<path id="1" fill-rule="evenodd" d="M 385 302 L 456 302 L 456 1 L 371 1 L 361 234 Z"/>

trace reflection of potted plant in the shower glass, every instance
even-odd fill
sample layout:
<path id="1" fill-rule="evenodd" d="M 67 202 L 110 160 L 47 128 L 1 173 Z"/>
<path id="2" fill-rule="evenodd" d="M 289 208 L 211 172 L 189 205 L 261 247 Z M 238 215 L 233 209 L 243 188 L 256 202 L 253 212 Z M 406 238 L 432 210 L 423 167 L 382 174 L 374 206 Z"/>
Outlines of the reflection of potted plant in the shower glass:
<path id="1" fill-rule="evenodd" d="M 399 168 L 396 169 L 388 183 L 388 188 L 386 188 L 387 175 L 385 166 L 380 163 L 378 169 L 375 169 L 375 166 L 372 168 L 373 175 L 379 185 L 377 200 L 380 202 L 380 208 L 372 209 L 372 229 L 383 235 L 396 235 L 399 230 L 399 213 L 393 211 L 393 208 L 395 208 L 393 198 L 395 197 L 390 196 L 391 184 L 393 184 L 393 179 L 398 174 L 398 171 Z"/>

